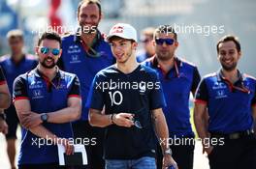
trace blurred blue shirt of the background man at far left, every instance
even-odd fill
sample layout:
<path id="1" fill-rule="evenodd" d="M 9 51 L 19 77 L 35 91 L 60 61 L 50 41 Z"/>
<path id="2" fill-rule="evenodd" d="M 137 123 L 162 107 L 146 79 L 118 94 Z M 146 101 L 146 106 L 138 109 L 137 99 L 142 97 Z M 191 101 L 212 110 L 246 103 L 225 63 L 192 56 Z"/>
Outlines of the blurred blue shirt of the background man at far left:
<path id="1" fill-rule="evenodd" d="M 16 77 L 28 70 L 36 68 L 38 62 L 33 55 L 25 54 L 23 58 L 16 63 L 10 55 L 0 58 L 0 66 L 6 76 L 7 84 L 11 95 L 13 95 L 13 84 Z"/>

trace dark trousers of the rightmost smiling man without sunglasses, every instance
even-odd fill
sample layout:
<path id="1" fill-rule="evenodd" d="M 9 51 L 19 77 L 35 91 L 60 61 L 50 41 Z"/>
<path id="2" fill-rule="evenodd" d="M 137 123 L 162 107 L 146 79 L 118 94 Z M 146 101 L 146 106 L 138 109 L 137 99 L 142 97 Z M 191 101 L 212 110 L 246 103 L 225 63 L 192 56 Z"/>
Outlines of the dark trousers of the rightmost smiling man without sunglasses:
<path id="1" fill-rule="evenodd" d="M 256 169 L 256 137 L 225 139 L 208 155 L 210 169 Z"/>

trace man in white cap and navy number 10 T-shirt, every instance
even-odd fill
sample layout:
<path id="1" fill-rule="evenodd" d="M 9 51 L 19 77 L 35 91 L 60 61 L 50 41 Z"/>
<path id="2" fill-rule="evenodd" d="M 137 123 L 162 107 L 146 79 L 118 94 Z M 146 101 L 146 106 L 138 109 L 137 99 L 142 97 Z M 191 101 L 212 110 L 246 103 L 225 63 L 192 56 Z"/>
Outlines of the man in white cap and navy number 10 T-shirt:
<path id="1" fill-rule="evenodd" d="M 165 100 L 160 82 L 154 70 L 136 61 L 136 30 L 129 24 L 118 23 L 112 27 L 108 42 L 116 64 L 96 74 L 87 102 L 90 124 L 106 127 L 106 169 L 155 169 L 154 128 L 161 140 L 164 166 L 176 168 L 168 146 L 168 127 L 162 111 Z M 137 83 L 139 88 L 113 86 L 110 81 Z M 105 114 L 101 113 L 103 107 Z"/>

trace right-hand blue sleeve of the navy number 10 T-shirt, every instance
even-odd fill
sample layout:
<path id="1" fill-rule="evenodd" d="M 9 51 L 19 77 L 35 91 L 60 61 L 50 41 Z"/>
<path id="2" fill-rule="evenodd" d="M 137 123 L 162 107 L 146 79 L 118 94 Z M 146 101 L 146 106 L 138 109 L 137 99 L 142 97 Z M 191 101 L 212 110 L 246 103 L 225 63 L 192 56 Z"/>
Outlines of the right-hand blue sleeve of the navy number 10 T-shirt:
<path id="1" fill-rule="evenodd" d="M 156 72 L 152 73 L 150 77 L 151 79 L 149 81 L 153 82 L 154 88 L 149 93 L 149 108 L 150 110 L 163 108 L 166 106 L 166 101 L 159 77 Z"/>

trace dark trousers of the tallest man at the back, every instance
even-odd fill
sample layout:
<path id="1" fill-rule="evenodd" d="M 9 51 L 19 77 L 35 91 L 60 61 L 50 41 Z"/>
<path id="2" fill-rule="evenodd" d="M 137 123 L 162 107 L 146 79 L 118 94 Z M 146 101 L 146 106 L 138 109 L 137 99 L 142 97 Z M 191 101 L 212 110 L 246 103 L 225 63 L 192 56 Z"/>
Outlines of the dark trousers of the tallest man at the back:
<path id="1" fill-rule="evenodd" d="M 81 144 L 85 145 L 88 159 L 87 166 L 76 169 L 104 169 L 103 138 L 105 129 L 102 127 L 91 127 L 88 121 L 78 121 L 73 123 L 72 127 L 75 139 L 82 139 Z"/>

